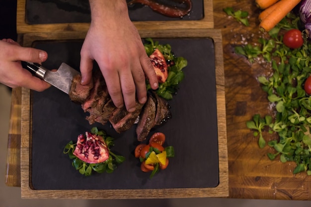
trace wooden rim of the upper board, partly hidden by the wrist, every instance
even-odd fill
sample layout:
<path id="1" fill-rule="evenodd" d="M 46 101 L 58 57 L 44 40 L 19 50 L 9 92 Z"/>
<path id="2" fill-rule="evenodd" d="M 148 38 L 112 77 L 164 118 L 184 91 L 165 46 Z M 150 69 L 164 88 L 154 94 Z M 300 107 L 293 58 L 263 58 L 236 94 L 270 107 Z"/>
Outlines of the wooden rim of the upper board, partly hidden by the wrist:
<path id="1" fill-rule="evenodd" d="M 17 0 L 17 33 L 40 33 L 40 32 L 87 32 L 89 23 L 59 23 L 59 24 L 27 24 L 25 21 L 26 0 Z M 204 0 L 204 17 L 201 20 L 187 21 L 135 21 L 138 30 L 154 29 L 211 29 L 214 27 L 213 1 Z"/>

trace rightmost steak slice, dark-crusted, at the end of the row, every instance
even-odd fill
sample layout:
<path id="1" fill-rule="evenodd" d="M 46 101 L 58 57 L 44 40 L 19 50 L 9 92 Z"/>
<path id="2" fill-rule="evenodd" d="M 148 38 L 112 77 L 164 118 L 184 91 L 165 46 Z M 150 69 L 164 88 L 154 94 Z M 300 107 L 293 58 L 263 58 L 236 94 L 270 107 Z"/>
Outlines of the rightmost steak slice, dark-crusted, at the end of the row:
<path id="1" fill-rule="evenodd" d="M 153 96 L 156 98 L 156 117 L 154 122 L 154 126 L 156 126 L 166 122 L 172 117 L 172 114 L 169 110 L 169 104 L 165 99 L 159 97 L 156 93 L 153 93 Z"/>

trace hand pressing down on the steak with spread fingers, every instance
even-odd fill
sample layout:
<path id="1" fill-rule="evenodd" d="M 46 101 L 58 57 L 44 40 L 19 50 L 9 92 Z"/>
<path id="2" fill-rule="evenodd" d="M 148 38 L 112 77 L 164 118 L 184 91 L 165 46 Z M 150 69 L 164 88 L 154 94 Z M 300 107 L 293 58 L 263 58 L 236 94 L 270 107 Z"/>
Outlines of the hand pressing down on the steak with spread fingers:
<path id="1" fill-rule="evenodd" d="M 135 110 L 135 97 L 147 101 L 145 75 L 153 89 L 158 82 L 140 35 L 128 15 L 126 0 L 89 0 L 91 24 L 80 60 L 81 84 L 91 80 L 96 60 L 117 107 Z"/>

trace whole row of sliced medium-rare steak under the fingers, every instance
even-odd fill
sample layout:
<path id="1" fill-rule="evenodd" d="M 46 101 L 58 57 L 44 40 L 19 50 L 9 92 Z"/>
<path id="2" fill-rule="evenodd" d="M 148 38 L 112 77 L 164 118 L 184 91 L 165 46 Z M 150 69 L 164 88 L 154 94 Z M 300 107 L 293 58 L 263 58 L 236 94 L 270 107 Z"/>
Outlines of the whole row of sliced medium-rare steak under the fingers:
<path id="1" fill-rule="evenodd" d="M 116 132 L 121 133 L 130 129 L 139 117 L 136 127 L 137 140 L 144 141 L 150 130 L 171 118 L 169 104 L 156 93 L 148 93 L 146 104 L 136 102 L 136 110 L 132 113 L 126 107 L 117 108 L 109 96 L 105 80 L 99 70 L 93 73 L 89 85 L 80 84 L 81 76 L 74 77 L 70 90 L 70 99 L 78 104 L 84 112 L 89 124 L 95 122 L 105 125 L 108 121 Z"/>

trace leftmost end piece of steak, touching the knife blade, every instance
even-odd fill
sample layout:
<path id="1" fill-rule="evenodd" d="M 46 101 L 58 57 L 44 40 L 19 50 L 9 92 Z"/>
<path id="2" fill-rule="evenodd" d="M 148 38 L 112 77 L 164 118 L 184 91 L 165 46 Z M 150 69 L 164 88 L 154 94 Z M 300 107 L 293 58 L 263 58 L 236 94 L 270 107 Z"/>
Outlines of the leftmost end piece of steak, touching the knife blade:
<path id="1" fill-rule="evenodd" d="M 81 75 L 73 78 L 72 86 L 69 91 L 69 98 L 72 102 L 82 104 L 85 102 L 93 88 L 93 81 L 88 85 L 81 85 Z"/>

